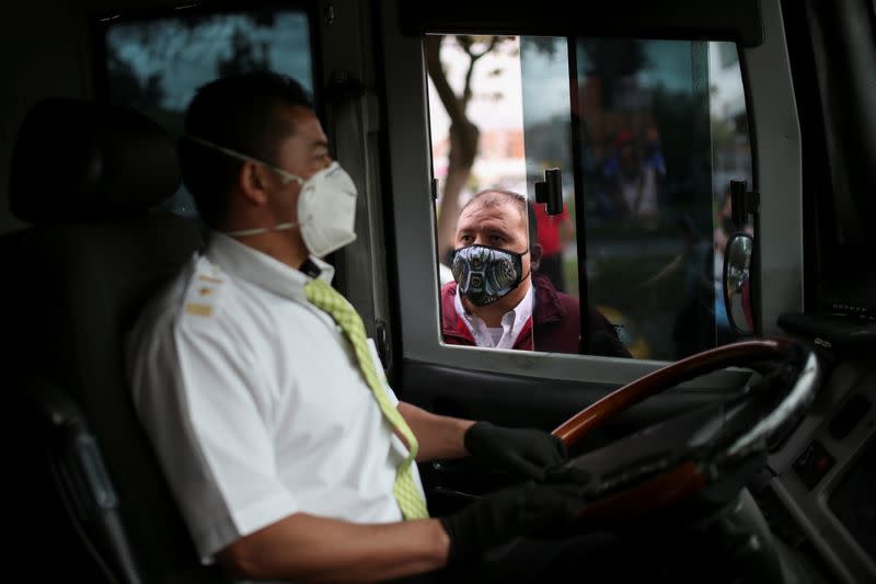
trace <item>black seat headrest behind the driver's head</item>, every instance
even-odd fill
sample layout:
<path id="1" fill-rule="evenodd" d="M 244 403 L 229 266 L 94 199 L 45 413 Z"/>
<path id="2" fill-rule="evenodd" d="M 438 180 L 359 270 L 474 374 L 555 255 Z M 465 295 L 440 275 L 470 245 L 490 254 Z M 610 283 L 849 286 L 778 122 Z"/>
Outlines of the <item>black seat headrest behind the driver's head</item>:
<path id="1" fill-rule="evenodd" d="M 122 106 L 51 98 L 36 103 L 12 151 L 9 202 L 22 221 L 117 219 L 180 187 L 171 137 Z"/>

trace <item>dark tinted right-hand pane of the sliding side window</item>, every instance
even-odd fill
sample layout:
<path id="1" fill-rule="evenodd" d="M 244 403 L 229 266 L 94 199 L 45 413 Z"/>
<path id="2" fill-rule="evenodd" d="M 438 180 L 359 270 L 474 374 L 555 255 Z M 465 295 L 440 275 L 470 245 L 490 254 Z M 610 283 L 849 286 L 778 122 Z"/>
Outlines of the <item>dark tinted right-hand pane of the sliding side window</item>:
<path id="1" fill-rule="evenodd" d="M 590 300 L 638 356 L 676 359 L 735 340 L 722 250 L 729 181 L 750 184 L 751 157 L 728 54 L 734 44 L 577 41 Z"/>

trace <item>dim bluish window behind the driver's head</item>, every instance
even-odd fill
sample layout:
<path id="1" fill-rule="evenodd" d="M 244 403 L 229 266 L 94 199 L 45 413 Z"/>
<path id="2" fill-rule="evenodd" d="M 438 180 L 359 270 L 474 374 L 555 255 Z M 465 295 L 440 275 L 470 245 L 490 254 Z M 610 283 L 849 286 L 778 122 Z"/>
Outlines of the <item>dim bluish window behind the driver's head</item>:
<path id="1" fill-rule="evenodd" d="M 223 75 L 273 70 L 313 92 L 308 16 L 296 10 L 246 10 L 217 14 L 103 23 L 110 100 L 136 107 L 180 136 L 197 89 Z M 181 187 L 164 205 L 195 217 Z"/>

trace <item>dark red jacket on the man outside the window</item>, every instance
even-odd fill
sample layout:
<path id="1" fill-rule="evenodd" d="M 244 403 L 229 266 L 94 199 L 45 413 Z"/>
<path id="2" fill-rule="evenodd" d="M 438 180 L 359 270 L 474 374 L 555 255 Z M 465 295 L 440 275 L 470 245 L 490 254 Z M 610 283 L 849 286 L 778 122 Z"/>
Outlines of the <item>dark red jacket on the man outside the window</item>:
<path id="1" fill-rule="evenodd" d="M 532 347 L 534 334 L 535 351 L 549 353 L 581 353 L 580 351 L 580 309 L 578 299 L 557 291 L 543 274 L 532 274 L 533 306 L 532 318 L 523 325 L 514 343 L 514 348 Z M 457 314 L 453 299 L 457 283 L 448 282 L 441 288 L 441 337 L 449 345 L 474 346 L 465 322 Z M 592 307 L 590 308 L 590 332 L 604 331 L 616 339 L 614 327 Z"/>

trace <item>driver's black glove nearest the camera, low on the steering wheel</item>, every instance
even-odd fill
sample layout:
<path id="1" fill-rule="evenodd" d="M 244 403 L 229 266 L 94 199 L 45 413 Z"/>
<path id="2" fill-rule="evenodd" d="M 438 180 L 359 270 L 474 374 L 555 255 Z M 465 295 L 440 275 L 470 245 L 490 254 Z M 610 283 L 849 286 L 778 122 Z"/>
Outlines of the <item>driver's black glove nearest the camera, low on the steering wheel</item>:
<path id="1" fill-rule="evenodd" d="M 530 483 L 491 493 L 440 518 L 450 537 L 448 565 L 477 560 L 517 537 L 560 537 L 584 504 L 580 488 L 572 484 Z"/>

